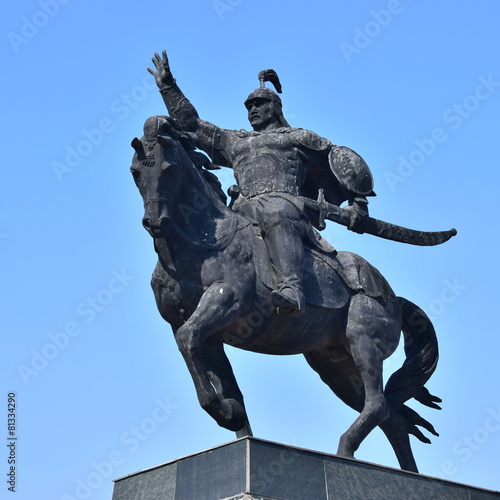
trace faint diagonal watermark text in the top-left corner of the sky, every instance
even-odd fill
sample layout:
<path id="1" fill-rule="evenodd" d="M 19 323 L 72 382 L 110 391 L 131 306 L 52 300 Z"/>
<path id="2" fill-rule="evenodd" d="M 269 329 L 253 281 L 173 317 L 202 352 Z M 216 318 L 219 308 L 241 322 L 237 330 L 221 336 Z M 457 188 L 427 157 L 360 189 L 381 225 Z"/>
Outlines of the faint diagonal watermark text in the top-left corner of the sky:
<path id="1" fill-rule="evenodd" d="M 18 32 L 10 31 L 7 39 L 15 54 L 35 38 L 40 30 L 45 28 L 51 19 L 57 16 L 63 5 L 67 5 L 70 0 L 40 0 L 37 5 L 40 7 L 31 16 L 21 18 L 21 27 Z"/>

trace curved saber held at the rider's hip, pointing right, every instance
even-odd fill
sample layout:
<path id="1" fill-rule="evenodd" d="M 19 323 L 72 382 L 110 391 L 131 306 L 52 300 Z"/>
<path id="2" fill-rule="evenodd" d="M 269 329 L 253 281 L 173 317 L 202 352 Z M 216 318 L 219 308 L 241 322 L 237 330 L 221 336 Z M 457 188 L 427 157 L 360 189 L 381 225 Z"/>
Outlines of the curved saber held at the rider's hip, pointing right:
<path id="1" fill-rule="evenodd" d="M 337 205 L 328 203 L 323 196 L 322 189 L 319 190 L 317 201 L 310 198 L 303 198 L 303 200 L 307 207 L 319 212 L 320 229 L 324 229 L 325 219 L 349 227 L 351 220 L 349 213 Z M 378 236 L 379 238 L 419 246 L 440 245 L 457 234 L 456 229 L 450 229 L 449 231 L 417 231 L 415 229 L 397 226 L 390 222 L 374 219 L 373 217 L 367 217 L 363 230 L 365 233 Z"/>

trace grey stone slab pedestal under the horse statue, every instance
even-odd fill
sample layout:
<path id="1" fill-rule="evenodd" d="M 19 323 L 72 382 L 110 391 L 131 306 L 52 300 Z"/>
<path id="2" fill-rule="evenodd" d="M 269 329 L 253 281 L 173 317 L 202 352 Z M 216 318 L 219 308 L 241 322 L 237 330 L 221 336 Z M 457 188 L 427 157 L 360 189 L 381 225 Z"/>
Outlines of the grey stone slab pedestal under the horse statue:
<path id="1" fill-rule="evenodd" d="M 115 481 L 113 500 L 500 500 L 500 493 L 243 438 Z"/>

